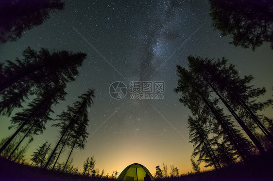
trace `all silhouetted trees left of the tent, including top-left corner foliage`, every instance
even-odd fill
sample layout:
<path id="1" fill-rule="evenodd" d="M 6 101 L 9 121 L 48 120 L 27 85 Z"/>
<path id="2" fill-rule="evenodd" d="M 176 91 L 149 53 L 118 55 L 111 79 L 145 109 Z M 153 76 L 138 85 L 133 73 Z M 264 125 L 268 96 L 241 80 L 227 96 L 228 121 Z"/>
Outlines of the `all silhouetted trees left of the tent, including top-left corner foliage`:
<path id="1" fill-rule="evenodd" d="M 16 41 L 22 32 L 42 24 L 50 18 L 51 12 L 64 9 L 61 0 L 4 0 L 0 2 L 0 14 L 5 19 L 0 21 L 0 43 Z M 16 11 L 15 11 L 16 10 Z M 1 139 L 0 155 L 13 161 L 28 164 L 24 154 L 34 140 L 35 135 L 43 134 L 48 121 L 58 123 L 60 137 L 52 147 L 47 141 L 31 155 L 31 166 L 59 170 L 65 173 L 79 174 L 72 165 L 71 154 L 75 149 L 84 149 L 88 133 L 88 108 L 93 105 L 94 90 L 78 96 L 79 100 L 67 110 L 51 119 L 51 109 L 65 100 L 67 84 L 79 74 L 87 54 L 68 52 L 66 50 L 50 52 L 46 48 L 35 51 L 27 47 L 22 59 L 6 60 L 0 63 L 0 114 L 10 117 L 14 109 L 20 109 L 11 117 L 9 129 L 16 129 L 12 136 Z M 26 106 L 25 106 L 26 105 Z M 28 140 L 27 140 L 28 139 Z M 26 144 L 22 145 L 26 140 Z M 70 150 L 65 162 L 59 163 L 59 157 L 65 150 Z M 89 162 L 92 158 L 93 162 Z M 89 158 L 88 158 L 89 159 Z M 95 169 L 95 160 L 84 164 L 83 175 L 116 178 L 114 171 L 103 176 Z"/>

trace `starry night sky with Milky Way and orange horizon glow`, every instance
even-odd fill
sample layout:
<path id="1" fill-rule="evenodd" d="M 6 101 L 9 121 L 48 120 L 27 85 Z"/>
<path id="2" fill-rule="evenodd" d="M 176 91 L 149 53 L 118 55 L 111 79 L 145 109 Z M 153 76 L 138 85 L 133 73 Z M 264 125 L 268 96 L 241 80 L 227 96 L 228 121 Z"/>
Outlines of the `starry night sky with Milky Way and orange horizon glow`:
<path id="1" fill-rule="evenodd" d="M 42 25 L 23 33 L 16 42 L 0 45 L 0 62 L 22 58 L 27 47 L 38 50 L 82 51 L 88 54 L 80 74 L 68 84 L 66 101 L 54 106 L 56 118 L 66 106 L 88 88 L 95 90 L 94 105 L 89 109 L 89 137 L 85 150 L 72 153 L 74 166 L 82 169 L 85 159 L 94 156 L 96 168 L 104 173 L 119 173 L 132 163 L 146 166 L 154 175 L 163 162 L 177 166 L 179 173 L 191 170 L 193 151 L 188 143 L 187 119 L 190 111 L 179 101 L 176 65 L 187 67 L 187 56 L 225 57 L 236 65 L 240 75 L 252 74 L 256 87 L 273 95 L 273 51 L 268 43 L 256 51 L 229 45 L 211 27 L 206 0 L 65 0 L 65 9 L 51 14 Z M 109 87 L 123 82 L 127 95 L 113 99 Z M 163 81 L 164 99 L 130 99 L 131 81 Z M 16 109 L 12 115 L 20 111 Z M 273 117 L 272 109 L 264 113 Z M 10 118 L 0 117 L 0 137 L 9 136 Z M 34 136 L 26 159 L 44 141 L 54 145 L 58 129 L 46 125 L 43 135 Z M 67 158 L 68 150 L 60 161 Z"/>

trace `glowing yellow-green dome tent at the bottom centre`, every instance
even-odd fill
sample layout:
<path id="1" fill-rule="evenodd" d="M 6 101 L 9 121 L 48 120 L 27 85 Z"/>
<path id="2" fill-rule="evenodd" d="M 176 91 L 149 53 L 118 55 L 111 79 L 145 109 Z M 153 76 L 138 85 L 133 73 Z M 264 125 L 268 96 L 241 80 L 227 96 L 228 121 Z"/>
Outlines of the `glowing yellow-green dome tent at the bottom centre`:
<path id="1" fill-rule="evenodd" d="M 154 177 L 149 172 L 149 170 L 140 164 L 132 164 L 124 168 L 124 170 L 120 173 L 118 180 L 120 181 L 144 181 L 144 177 L 148 173 L 151 180 L 154 180 Z"/>

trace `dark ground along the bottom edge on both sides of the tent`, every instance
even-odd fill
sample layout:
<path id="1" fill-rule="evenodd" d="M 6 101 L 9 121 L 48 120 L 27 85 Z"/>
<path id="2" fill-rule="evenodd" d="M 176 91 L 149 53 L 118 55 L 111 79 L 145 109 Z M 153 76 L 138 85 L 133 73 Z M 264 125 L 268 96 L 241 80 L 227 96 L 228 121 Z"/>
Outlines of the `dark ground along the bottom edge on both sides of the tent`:
<path id="1" fill-rule="evenodd" d="M 266 159 L 255 156 L 248 163 L 237 163 L 221 170 L 188 174 L 158 181 L 273 181 L 273 152 Z M 114 181 L 64 174 L 14 163 L 0 157 L 0 181 Z"/>

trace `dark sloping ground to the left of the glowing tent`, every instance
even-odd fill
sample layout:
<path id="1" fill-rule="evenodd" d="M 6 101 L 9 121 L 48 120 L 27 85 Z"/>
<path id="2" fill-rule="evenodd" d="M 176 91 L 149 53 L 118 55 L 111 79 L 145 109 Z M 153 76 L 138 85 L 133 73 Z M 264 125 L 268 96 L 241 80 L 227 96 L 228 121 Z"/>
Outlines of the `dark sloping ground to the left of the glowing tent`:
<path id="1" fill-rule="evenodd" d="M 114 181 L 27 166 L 0 157 L 0 181 Z"/>

